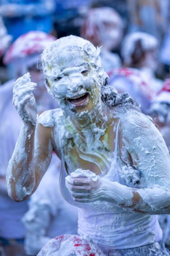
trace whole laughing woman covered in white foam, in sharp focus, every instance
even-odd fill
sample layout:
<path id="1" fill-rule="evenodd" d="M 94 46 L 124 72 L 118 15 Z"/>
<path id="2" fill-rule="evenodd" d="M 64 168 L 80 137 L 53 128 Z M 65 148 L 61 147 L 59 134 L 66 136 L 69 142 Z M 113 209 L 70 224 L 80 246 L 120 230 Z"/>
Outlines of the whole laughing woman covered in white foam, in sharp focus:
<path id="1" fill-rule="evenodd" d="M 99 49 L 85 39 L 56 40 L 41 66 L 60 109 L 36 118 L 36 85 L 29 74 L 14 83 L 23 122 L 7 170 L 9 196 L 28 199 L 55 151 L 61 193 L 79 207 L 80 236 L 105 255 L 170 255 L 156 216 L 170 213 L 170 156 L 151 119 L 108 85 Z"/>

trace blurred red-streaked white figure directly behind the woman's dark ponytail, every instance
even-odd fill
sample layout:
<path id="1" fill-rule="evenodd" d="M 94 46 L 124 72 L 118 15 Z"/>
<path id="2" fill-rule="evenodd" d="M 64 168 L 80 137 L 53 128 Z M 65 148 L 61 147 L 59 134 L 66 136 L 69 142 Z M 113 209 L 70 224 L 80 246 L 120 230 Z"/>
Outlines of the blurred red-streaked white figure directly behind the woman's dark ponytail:
<path id="1" fill-rule="evenodd" d="M 140 105 L 141 111 L 147 113 L 154 91 L 151 80 L 138 69 L 120 68 L 109 72 L 110 82 L 119 94 L 129 93 Z"/>

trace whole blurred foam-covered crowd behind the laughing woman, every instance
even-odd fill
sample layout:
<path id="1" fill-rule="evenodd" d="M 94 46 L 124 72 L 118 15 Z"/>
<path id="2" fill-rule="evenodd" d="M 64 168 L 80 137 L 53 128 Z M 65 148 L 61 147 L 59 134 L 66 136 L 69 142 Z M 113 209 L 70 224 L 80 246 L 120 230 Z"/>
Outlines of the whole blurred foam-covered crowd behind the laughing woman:
<path id="1" fill-rule="evenodd" d="M 28 202 L 7 195 L 5 173 L 19 135 L 14 80 L 29 72 L 38 84 L 38 114 L 57 108 L 47 94 L 38 56 L 52 41 L 77 35 L 99 47 L 110 84 L 151 115 L 170 149 L 169 0 L 0 0 L 0 255 L 34 256 L 54 236 L 77 233 L 77 210 L 62 199 L 53 157 Z M 71 216 L 69 218 L 69 216 Z M 170 248 L 170 217 L 160 216 Z"/>

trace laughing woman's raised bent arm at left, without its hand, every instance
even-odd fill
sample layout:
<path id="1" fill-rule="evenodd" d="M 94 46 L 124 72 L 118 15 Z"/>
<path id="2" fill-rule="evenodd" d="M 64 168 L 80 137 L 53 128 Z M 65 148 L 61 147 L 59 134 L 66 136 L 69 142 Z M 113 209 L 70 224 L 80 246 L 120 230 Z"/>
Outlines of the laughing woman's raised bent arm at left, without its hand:
<path id="1" fill-rule="evenodd" d="M 28 199 L 38 187 L 52 158 L 51 128 L 22 123 L 7 168 L 8 194 L 14 201 Z"/>

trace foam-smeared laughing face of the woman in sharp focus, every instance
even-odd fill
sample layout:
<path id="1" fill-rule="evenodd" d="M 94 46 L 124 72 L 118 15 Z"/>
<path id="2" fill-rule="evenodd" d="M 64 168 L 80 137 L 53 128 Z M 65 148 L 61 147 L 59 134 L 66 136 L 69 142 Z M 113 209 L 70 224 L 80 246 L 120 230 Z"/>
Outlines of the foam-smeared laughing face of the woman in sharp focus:
<path id="1" fill-rule="evenodd" d="M 100 83 L 95 65 L 76 57 L 67 53 L 65 59 L 58 61 L 60 67 L 48 67 L 45 79 L 59 106 L 79 113 L 96 106 L 100 99 Z"/>

